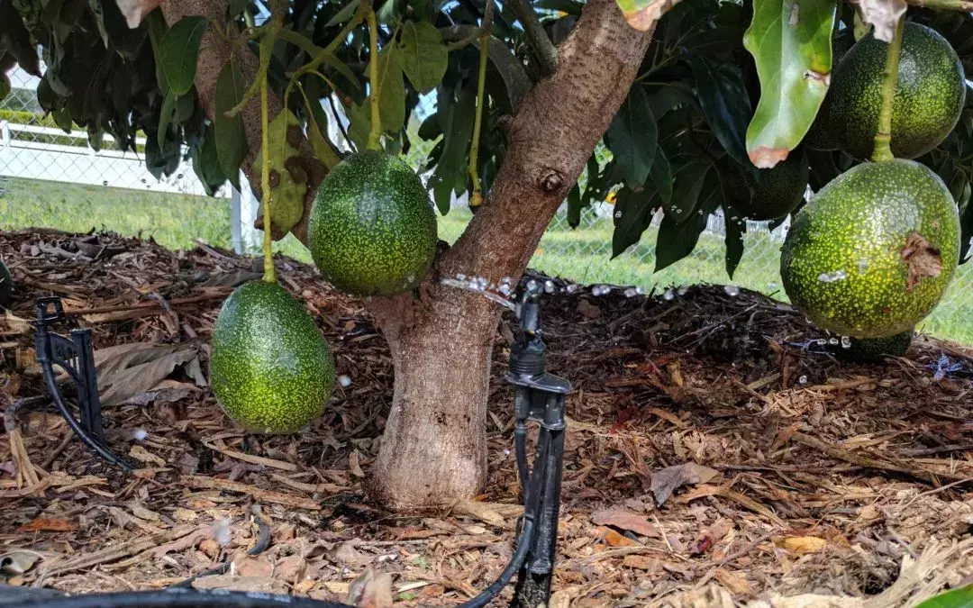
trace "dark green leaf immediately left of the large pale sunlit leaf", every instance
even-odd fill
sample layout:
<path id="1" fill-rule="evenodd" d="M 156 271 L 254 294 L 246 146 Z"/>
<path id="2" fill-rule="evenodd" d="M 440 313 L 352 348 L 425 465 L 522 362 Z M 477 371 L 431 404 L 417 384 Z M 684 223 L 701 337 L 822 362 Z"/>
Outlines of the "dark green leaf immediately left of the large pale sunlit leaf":
<path id="1" fill-rule="evenodd" d="M 745 133 L 750 101 L 743 77 L 734 67 L 712 65 L 701 54 L 690 54 L 689 64 L 706 123 L 727 154 L 746 166 Z"/>

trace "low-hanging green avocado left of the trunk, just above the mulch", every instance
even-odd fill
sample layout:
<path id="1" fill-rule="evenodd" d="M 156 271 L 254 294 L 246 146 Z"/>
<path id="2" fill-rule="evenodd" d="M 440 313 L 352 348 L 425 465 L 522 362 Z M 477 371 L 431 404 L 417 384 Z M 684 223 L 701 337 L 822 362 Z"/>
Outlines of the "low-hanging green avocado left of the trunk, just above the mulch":
<path id="1" fill-rule="evenodd" d="M 223 303 L 209 366 L 220 407 L 251 432 L 300 430 L 335 384 L 331 348 L 304 306 L 263 280 L 240 285 Z"/>

